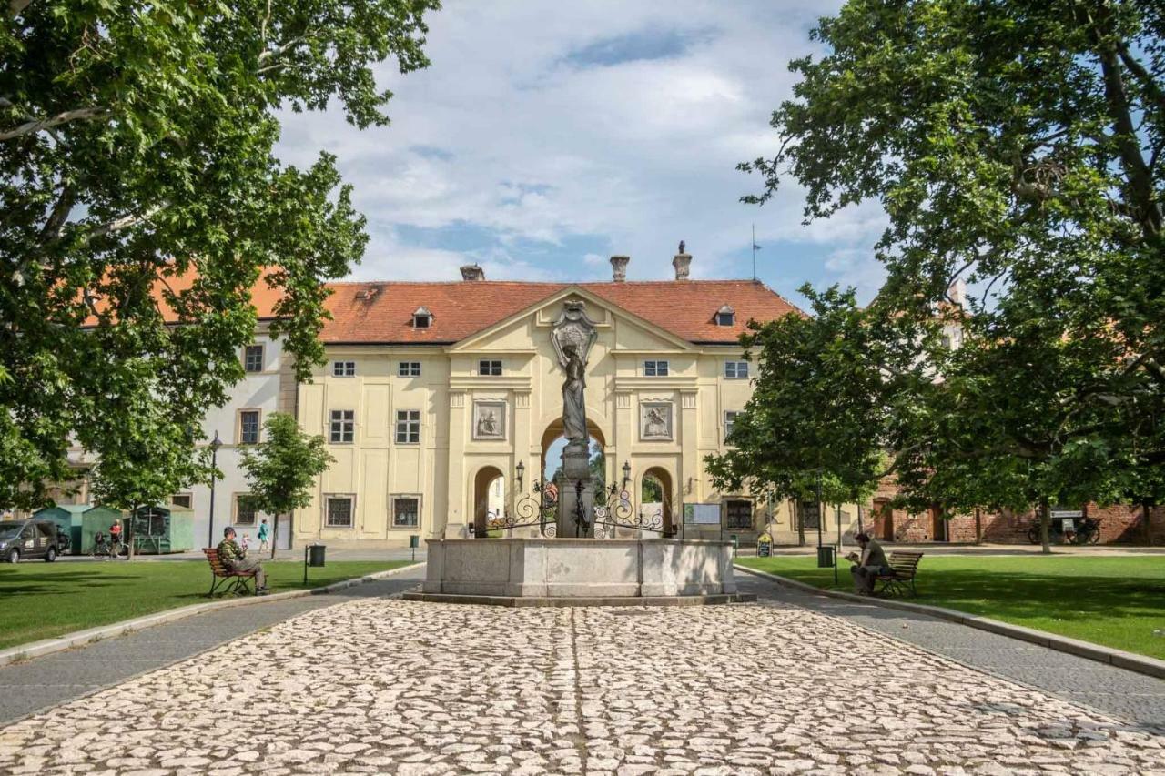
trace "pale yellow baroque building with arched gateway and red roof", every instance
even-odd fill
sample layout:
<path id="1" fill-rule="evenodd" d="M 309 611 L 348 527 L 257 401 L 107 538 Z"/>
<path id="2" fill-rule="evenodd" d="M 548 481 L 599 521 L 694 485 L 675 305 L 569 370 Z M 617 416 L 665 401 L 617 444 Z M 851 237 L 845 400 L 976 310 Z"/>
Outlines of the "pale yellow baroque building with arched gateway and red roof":
<path id="1" fill-rule="evenodd" d="M 690 261 L 678 254 L 664 282 L 627 282 L 615 256 L 606 283 L 487 281 L 468 266 L 459 282 L 333 284 L 327 361 L 297 414 L 336 460 L 294 516 L 295 544 L 401 546 L 514 514 L 558 465 L 550 332 L 569 303 L 598 332 L 585 395 L 605 481 L 666 535 L 795 536 L 788 505 L 719 493 L 704 464 L 751 393 L 741 332 L 793 308 L 756 281 L 689 280 Z"/>

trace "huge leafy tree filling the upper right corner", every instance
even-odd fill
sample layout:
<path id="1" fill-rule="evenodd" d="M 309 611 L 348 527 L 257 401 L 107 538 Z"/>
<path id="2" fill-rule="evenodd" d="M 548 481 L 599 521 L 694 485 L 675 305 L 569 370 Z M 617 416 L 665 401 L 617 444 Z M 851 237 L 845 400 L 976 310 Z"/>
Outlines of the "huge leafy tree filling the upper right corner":
<path id="1" fill-rule="evenodd" d="M 826 54 L 791 64 L 746 200 L 792 178 L 806 219 L 881 203 L 899 319 L 977 289 L 890 432 L 916 502 L 1036 505 L 1046 529 L 1050 501 L 1165 464 L 1163 33 L 1138 0 L 849 0 L 813 31 Z"/>

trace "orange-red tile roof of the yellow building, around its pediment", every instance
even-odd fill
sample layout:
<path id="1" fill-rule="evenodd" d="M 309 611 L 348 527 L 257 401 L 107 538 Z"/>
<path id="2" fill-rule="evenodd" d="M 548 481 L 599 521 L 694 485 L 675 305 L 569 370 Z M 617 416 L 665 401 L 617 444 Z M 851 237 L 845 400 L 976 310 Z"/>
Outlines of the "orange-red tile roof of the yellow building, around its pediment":
<path id="1" fill-rule="evenodd" d="M 658 281 L 624 283 L 330 283 L 324 343 L 456 343 L 504 320 L 563 289 L 577 287 L 692 343 L 735 343 L 750 319 L 771 320 L 797 308 L 756 281 Z M 718 326 L 716 310 L 733 308 L 735 324 Z M 432 313 L 429 329 L 414 329 L 418 308 Z"/>

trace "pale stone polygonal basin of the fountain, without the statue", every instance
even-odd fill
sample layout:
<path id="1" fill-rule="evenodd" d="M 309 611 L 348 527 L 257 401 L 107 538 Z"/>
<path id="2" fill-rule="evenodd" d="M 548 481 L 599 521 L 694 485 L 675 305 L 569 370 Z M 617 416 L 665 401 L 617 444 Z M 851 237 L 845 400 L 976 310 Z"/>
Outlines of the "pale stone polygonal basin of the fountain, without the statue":
<path id="1" fill-rule="evenodd" d="M 741 600 L 729 542 L 539 537 L 428 544 L 422 593 L 405 598 L 482 597 L 506 600 L 480 602 L 510 605 L 520 605 L 516 599 L 530 599 L 528 605 Z"/>

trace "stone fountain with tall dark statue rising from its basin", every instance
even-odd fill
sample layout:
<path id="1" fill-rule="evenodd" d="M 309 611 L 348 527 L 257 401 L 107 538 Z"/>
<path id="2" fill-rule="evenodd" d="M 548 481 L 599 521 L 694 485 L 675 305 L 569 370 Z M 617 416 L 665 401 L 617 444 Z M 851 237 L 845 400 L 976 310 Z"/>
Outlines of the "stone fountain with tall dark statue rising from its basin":
<path id="1" fill-rule="evenodd" d="M 587 444 L 586 366 L 596 338 L 584 303 L 567 302 L 551 331 L 565 375 L 566 446 L 556 536 L 429 539 L 424 585 L 419 592 L 405 593 L 405 599 L 508 606 L 691 605 L 755 599 L 736 592 L 730 543 L 657 538 L 650 529 L 659 527 L 619 522 L 606 508 L 607 494 L 595 493 Z M 599 495 L 603 499 L 596 508 Z M 602 538 L 595 537 L 596 524 Z M 640 535 L 615 538 L 619 528 Z"/>

